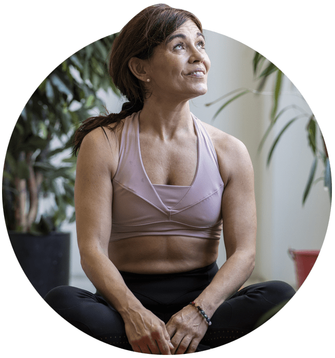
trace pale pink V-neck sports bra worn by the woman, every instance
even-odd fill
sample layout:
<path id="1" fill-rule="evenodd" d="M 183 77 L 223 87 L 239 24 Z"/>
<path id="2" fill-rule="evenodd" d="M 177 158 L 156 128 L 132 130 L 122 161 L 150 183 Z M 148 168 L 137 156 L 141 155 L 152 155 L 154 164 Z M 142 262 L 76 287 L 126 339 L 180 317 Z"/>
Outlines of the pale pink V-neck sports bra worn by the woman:
<path id="1" fill-rule="evenodd" d="M 197 168 L 190 186 L 153 185 L 144 169 L 139 114 L 124 120 L 113 184 L 110 241 L 147 235 L 219 240 L 223 181 L 217 155 L 203 124 L 192 114 Z"/>

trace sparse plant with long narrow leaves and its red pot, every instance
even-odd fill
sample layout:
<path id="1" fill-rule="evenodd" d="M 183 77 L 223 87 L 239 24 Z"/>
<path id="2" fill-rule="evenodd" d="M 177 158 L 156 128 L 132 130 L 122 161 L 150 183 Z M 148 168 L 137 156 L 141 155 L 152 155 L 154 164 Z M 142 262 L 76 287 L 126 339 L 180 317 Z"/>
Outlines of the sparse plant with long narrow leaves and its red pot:
<path id="1" fill-rule="evenodd" d="M 307 113 L 304 109 L 301 107 L 296 106 L 294 103 L 287 105 L 280 111 L 278 111 L 278 103 L 281 96 L 281 89 L 282 89 L 282 83 L 284 79 L 284 73 L 270 60 L 265 58 L 263 55 L 261 55 L 259 52 L 255 51 L 254 57 L 253 57 L 253 74 L 255 76 L 256 81 L 258 82 L 257 89 L 250 89 L 250 88 L 238 88 L 235 89 L 229 93 L 226 93 L 216 101 L 212 103 L 206 104 L 206 106 L 211 106 L 214 103 L 220 102 L 224 100 L 224 103 L 221 105 L 221 107 L 217 110 L 215 115 L 213 116 L 213 120 L 218 116 L 218 114 L 223 111 L 223 109 L 229 105 L 231 102 L 237 100 L 239 97 L 247 94 L 247 93 L 255 93 L 257 95 L 260 95 L 263 93 L 263 89 L 265 84 L 268 82 L 270 78 L 275 77 L 274 80 L 274 90 L 273 90 L 273 107 L 271 110 L 271 113 L 269 115 L 270 117 L 270 124 L 266 129 L 266 132 L 259 144 L 258 150 L 260 151 L 265 143 L 265 140 L 268 138 L 269 134 L 271 133 L 272 129 L 274 128 L 274 125 L 281 119 L 282 115 L 291 109 L 296 109 L 299 111 L 299 114 L 288 120 L 282 127 L 281 131 L 277 135 L 277 137 L 274 139 L 269 153 L 267 154 L 267 161 L 266 165 L 269 166 L 274 150 L 282 138 L 283 134 L 290 128 L 292 123 L 294 123 L 296 120 L 298 120 L 301 117 L 308 118 L 308 124 L 306 126 L 306 134 L 308 138 L 308 145 L 313 153 L 313 161 L 311 165 L 311 170 L 309 173 L 309 177 L 307 179 L 306 187 L 303 194 L 303 205 L 305 204 L 308 195 L 310 193 L 311 187 L 313 183 L 316 183 L 320 180 L 324 181 L 324 187 L 328 189 L 329 192 L 329 198 L 331 202 L 331 172 L 330 172 L 330 161 L 328 156 L 327 147 L 325 144 L 325 141 L 322 137 L 322 144 L 321 148 L 318 146 L 317 143 L 317 137 L 318 137 L 318 126 L 317 121 L 315 119 L 314 113 Z M 318 162 L 321 162 L 324 166 L 324 176 L 323 178 L 318 178 L 315 180 L 315 173 L 317 169 Z M 316 259 L 318 257 L 318 254 L 320 253 L 320 250 L 288 250 L 289 255 L 294 261 L 295 265 L 295 272 L 296 272 L 296 281 L 297 286 L 300 287 L 301 284 L 305 281 L 308 274 L 312 270 Z"/>

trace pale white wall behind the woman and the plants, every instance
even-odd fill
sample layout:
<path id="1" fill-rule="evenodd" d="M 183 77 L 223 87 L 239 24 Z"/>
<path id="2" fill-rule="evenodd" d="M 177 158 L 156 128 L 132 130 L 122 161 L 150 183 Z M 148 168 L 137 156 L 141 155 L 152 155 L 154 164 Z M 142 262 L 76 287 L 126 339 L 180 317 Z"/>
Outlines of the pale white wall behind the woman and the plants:
<path id="1" fill-rule="evenodd" d="M 205 30 L 205 36 L 206 51 L 212 62 L 208 77 L 209 90 L 204 96 L 192 100 L 190 107 L 195 116 L 211 123 L 214 113 L 223 102 L 210 107 L 205 107 L 206 103 L 239 87 L 255 88 L 252 74 L 254 50 L 213 31 Z M 291 88 L 289 81 L 285 82 L 285 90 L 297 92 L 294 86 Z M 120 110 L 121 101 L 113 93 L 105 96 L 104 100 L 109 111 Z M 290 101 L 304 105 L 304 101 L 298 96 L 285 95 L 280 104 L 281 108 Z M 301 119 L 292 126 L 278 144 L 270 168 L 265 168 L 269 144 L 261 155 L 258 155 L 257 148 L 269 124 L 271 105 L 271 96 L 257 97 L 254 94 L 246 94 L 228 105 L 213 125 L 244 142 L 253 162 L 258 217 L 257 257 L 253 277 L 256 280 L 281 279 L 294 284 L 293 263 L 287 250 L 289 247 L 321 248 L 328 226 L 330 204 L 328 193 L 324 191 L 322 184 L 318 183 L 312 189 L 305 207 L 301 206 L 312 158 L 304 130 L 307 120 Z M 310 110 L 308 106 L 307 110 Z M 283 117 L 267 143 L 279 133 L 283 122 L 293 116 L 294 112 L 290 112 Z M 320 166 L 318 174 L 321 175 L 321 172 Z M 80 277 L 83 272 L 80 267 L 75 226 L 64 225 L 63 229 L 73 233 L 71 272 L 73 276 Z M 218 264 L 223 264 L 224 260 L 225 250 L 222 242 Z M 83 288 L 87 288 L 84 281 Z"/>

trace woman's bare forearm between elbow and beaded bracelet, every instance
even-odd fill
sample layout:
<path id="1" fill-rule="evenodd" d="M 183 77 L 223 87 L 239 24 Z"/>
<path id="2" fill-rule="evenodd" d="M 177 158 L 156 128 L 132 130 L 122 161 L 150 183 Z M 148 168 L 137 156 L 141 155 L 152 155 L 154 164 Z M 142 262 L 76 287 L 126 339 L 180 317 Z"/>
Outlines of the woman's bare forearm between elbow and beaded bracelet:
<path id="1" fill-rule="evenodd" d="M 254 269 L 254 254 L 237 250 L 222 265 L 212 282 L 194 301 L 212 317 L 216 309 L 238 291 Z"/>

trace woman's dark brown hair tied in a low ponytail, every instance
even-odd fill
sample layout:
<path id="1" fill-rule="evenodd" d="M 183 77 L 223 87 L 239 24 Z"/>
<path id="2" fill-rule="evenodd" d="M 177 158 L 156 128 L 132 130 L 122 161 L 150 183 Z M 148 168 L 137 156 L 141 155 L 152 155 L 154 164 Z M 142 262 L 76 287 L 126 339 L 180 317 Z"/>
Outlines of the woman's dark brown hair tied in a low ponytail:
<path id="1" fill-rule="evenodd" d="M 202 32 L 202 24 L 192 13 L 175 9 L 165 4 L 157 4 L 139 12 L 120 31 L 114 40 L 110 52 L 109 74 L 128 102 L 124 103 L 120 113 L 110 113 L 105 116 L 90 117 L 82 122 L 75 134 L 74 152 L 76 153 L 82 140 L 93 129 L 108 126 L 111 131 L 118 126 L 122 119 L 143 108 L 146 98 L 145 87 L 128 68 L 131 57 L 148 59 L 154 48 L 187 20 L 192 20 Z M 114 124 L 112 127 L 110 124 Z"/>

